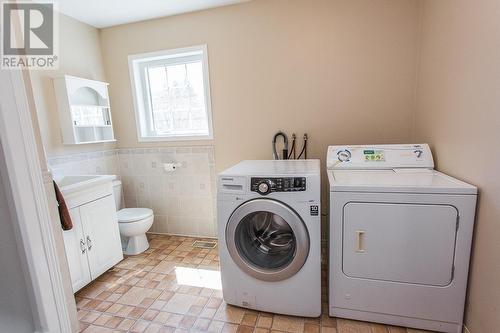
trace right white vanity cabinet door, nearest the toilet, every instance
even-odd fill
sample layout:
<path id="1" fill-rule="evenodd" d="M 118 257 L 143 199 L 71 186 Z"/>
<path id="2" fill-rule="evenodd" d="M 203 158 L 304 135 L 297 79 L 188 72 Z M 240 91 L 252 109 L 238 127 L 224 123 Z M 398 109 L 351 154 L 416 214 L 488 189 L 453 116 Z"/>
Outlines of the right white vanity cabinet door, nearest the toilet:
<path id="1" fill-rule="evenodd" d="M 92 279 L 123 259 L 112 195 L 80 207 Z"/>

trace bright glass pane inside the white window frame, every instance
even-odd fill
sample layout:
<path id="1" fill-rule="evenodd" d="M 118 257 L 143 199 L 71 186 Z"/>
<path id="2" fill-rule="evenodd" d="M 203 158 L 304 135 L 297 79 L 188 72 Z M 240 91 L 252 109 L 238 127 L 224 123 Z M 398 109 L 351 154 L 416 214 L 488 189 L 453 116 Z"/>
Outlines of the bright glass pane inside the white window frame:
<path id="1" fill-rule="evenodd" d="M 152 126 L 159 135 L 208 135 L 201 61 L 147 67 Z"/>

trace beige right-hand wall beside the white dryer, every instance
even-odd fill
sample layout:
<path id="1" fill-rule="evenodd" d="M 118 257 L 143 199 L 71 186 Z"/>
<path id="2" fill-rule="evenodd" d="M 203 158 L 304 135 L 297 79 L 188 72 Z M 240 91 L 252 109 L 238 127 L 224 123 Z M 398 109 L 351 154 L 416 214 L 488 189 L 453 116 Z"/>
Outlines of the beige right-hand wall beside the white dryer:
<path id="1" fill-rule="evenodd" d="M 500 2 L 427 0 L 417 141 L 439 170 L 479 187 L 466 324 L 500 329 Z"/>

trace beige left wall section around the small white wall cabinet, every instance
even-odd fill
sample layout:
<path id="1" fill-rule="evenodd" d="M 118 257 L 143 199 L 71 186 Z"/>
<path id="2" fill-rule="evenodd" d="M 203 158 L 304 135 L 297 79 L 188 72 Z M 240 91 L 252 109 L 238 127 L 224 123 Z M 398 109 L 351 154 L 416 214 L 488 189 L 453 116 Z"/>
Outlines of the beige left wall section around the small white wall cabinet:
<path id="1" fill-rule="evenodd" d="M 63 145 L 52 78 L 75 75 L 105 80 L 99 30 L 59 15 L 59 69 L 30 72 L 45 151 L 49 157 L 111 148 L 114 144 Z"/>

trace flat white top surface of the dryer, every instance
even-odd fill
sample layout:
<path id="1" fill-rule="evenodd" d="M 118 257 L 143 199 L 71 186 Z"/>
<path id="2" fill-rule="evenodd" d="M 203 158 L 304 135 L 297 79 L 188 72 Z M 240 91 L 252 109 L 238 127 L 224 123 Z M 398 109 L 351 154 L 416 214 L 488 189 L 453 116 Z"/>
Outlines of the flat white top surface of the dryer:
<path id="1" fill-rule="evenodd" d="M 477 188 L 429 169 L 328 170 L 331 192 L 477 194 Z"/>

